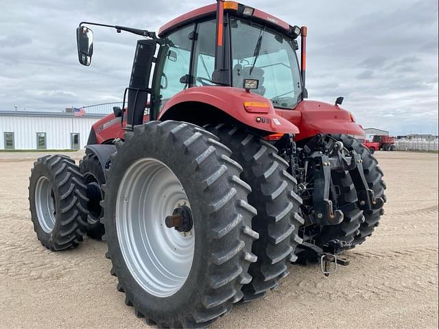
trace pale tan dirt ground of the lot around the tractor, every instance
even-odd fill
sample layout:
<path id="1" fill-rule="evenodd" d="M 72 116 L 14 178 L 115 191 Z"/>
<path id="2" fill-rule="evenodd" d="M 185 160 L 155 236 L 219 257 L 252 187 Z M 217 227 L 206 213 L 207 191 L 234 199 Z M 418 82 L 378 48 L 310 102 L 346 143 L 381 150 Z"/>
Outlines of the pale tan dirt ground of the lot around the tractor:
<path id="1" fill-rule="evenodd" d="M 37 241 L 27 185 L 41 155 L 0 153 L 0 328 L 147 328 L 116 290 L 105 243 L 52 253 Z M 438 155 L 376 156 L 388 203 L 375 234 L 346 253 L 351 265 L 329 278 L 292 266 L 213 328 L 438 328 Z"/>

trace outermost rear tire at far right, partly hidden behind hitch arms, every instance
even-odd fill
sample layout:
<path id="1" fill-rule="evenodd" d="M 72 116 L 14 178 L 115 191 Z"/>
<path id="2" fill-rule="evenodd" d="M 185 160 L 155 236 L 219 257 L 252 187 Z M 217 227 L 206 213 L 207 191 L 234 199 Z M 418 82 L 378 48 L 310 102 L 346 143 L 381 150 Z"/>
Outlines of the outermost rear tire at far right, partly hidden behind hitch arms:
<path id="1" fill-rule="evenodd" d="M 354 150 L 357 154 L 361 155 L 361 159 L 363 160 L 363 169 L 364 176 L 366 181 L 368 182 L 369 188 L 375 193 L 375 197 L 382 197 L 384 202 L 387 201 L 384 191 L 385 191 L 385 182 L 383 180 L 383 171 L 378 165 L 377 159 L 375 159 L 368 149 L 364 147 L 357 139 L 347 136 L 341 135 L 341 141 L 349 150 Z M 372 232 L 375 230 L 377 226 L 379 226 L 379 220 L 381 219 L 381 215 L 384 214 L 384 209 L 374 209 L 374 210 L 364 210 L 364 223 L 359 227 L 359 233 L 355 236 L 353 241 L 353 245 L 359 245 L 366 241 L 368 236 L 372 235 Z"/>

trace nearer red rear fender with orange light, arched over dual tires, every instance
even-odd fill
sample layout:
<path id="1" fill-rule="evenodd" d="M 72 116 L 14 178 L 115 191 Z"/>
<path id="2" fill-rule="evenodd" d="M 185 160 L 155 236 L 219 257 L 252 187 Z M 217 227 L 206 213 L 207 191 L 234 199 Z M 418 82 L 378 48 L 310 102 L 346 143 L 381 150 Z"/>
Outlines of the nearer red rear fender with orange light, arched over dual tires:
<path id="1" fill-rule="evenodd" d="M 245 101 L 265 102 L 268 107 L 264 108 L 263 111 L 258 108 L 256 109 L 258 112 L 249 112 L 244 108 Z M 294 123 L 276 113 L 269 99 L 233 87 L 202 86 L 182 90 L 166 101 L 165 106 L 158 113 L 157 119 L 162 121 L 175 119 L 172 109 L 182 103 L 207 104 L 221 110 L 236 121 L 244 123 L 244 125 L 268 133 L 298 134 L 299 132 Z M 208 111 L 202 115 L 209 118 Z"/>

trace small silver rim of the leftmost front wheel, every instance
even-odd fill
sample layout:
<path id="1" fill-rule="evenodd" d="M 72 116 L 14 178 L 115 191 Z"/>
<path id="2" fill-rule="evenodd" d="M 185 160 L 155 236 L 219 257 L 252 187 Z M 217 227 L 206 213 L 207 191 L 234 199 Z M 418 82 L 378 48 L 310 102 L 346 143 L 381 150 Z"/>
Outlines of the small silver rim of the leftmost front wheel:
<path id="1" fill-rule="evenodd" d="M 53 188 L 49 178 L 41 176 L 36 182 L 35 206 L 38 223 L 44 232 L 50 233 L 54 230 L 56 221 Z"/>

